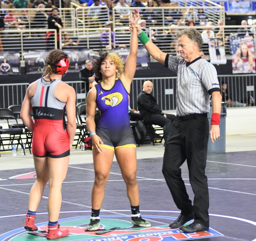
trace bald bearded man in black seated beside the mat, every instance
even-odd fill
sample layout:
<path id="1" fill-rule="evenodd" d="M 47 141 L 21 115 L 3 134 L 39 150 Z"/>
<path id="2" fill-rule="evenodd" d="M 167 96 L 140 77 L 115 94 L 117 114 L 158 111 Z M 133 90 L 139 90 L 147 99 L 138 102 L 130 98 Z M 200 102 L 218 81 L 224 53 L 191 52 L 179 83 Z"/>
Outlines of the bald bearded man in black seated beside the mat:
<path id="1" fill-rule="evenodd" d="M 164 114 L 152 96 L 153 83 L 146 80 L 143 83 L 142 91 L 137 98 L 138 111 L 142 120 L 148 125 L 159 125 L 164 129 L 164 140 L 167 139 L 171 123 L 176 119 L 175 115 Z"/>

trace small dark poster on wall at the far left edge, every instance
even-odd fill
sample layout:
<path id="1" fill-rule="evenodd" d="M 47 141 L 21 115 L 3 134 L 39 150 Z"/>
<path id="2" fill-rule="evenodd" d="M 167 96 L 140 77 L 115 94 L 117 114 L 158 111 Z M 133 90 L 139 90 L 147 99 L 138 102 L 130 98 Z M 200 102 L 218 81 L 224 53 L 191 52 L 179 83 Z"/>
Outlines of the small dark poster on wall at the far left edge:
<path id="1" fill-rule="evenodd" d="M 19 52 L 4 51 L 0 53 L 0 75 L 21 74 Z"/>

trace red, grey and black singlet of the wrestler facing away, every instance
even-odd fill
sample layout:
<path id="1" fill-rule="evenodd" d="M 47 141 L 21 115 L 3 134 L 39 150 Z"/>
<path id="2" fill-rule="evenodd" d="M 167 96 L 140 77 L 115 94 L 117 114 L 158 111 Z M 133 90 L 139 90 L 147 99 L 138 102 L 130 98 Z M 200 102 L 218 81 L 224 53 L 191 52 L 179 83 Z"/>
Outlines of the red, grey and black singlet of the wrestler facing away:
<path id="1" fill-rule="evenodd" d="M 31 97 L 35 119 L 32 152 L 37 157 L 61 158 L 69 156 L 69 137 L 66 130 L 65 106 L 55 95 L 60 79 L 37 80 L 36 92 Z"/>

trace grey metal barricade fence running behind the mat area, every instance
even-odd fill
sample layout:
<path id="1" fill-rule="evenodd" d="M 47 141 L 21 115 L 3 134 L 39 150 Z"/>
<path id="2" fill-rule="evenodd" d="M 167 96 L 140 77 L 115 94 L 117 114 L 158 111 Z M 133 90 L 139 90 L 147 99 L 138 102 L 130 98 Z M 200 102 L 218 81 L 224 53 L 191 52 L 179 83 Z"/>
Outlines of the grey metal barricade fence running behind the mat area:
<path id="1" fill-rule="evenodd" d="M 250 106 L 255 100 L 256 78 L 253 74 L 247 75 L 218 75 L 219 82 L 225 82 L 228 86 L 228 97 L 233 101 L 245 103 Z M 150 80 L 154 84 L 153 96 L 156 98 L 160 108 L 164 111 L 175 110 L 176 108 L 176 77 L 159 78 L 134 78 L 131 84 L 130 106 L 137 109 L 137 96 L 142 90 L 145 80 Z M 65 80 L 64 80 L 65 81 Z M 67 84 L 74 87 L 77 93 L 77 102 L 85 101 L 86 94 L 80 92 L 82 81 L 68 81 Z M 12 104 L 22 104 L 28 83 L 20 84 L 0 84 L 0 108 L 7 108 Z M 255 104 L 255 103 L 254 103 Z"/>

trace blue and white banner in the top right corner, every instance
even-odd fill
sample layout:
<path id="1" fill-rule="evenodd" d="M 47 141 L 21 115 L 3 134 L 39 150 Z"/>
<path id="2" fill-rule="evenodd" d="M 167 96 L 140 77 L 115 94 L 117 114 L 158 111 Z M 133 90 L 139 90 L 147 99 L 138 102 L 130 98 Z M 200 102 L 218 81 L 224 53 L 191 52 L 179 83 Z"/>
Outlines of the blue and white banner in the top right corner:
<path id="1" fill-rule="evenodd" d="M 254 15 L 254 2 L 252 0 L 228 0 L 227 15 Z"/>

